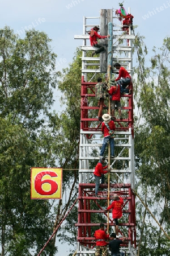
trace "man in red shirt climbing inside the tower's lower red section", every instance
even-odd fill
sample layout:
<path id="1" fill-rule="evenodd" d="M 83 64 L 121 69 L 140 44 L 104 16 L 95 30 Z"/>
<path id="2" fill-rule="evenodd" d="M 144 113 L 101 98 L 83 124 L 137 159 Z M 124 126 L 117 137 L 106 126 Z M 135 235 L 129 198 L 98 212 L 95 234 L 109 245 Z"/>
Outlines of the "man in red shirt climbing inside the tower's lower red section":
<path id="1" fill-rule="evenodd" d="M 113 202 L 106 211 L 112 209 L 112 218 L 116 224 L 116 236 L 118 237 L 118 218 L 122 217 L 122 205 L 124 204 L 124 200 L 122 197 L 118 197 L 117 195 L 113 196 Z"/>

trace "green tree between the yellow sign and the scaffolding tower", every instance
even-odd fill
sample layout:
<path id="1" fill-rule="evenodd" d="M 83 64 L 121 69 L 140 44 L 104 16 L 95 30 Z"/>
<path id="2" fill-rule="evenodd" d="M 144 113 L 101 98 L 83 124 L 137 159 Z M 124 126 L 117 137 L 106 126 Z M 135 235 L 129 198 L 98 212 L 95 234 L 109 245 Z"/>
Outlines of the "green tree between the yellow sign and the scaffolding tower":
<path id="1" fill-rule="evenodd" d="M 58 165 L 63 168 L 63 197 L 55 207 L 57 214 L 54 229 L 61 221 L 59 216 L 65 216 L 78 196 L 81 53 L 77 49 L 73 63 L 69 65 L 69 68 L 63 69 L 61 81 L 58 83 L 58 88 L 62 93 L 61 105 L 64 110 L 61 114 L 54 112 L 49 115 L 52 124 L 50 134 L 53 136 L 51 150 L 54 155 L 58 156 Z M 77 208 L 74 207 L 66 218 L 65 226 L 56 233 L 59 241 L 75 245 L 76 216 Z M 53 244 L 56 242 L 56 235 L 53 237 Z M 52 255 L 54 253 L 50 254 Z"/>

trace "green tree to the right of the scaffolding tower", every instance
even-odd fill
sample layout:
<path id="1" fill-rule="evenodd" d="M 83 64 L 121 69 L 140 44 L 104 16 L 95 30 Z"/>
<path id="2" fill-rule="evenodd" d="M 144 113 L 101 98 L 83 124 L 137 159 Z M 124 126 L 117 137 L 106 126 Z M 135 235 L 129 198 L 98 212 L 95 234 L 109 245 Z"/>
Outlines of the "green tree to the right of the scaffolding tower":
<path id="1" fill-rule="evenodd" d="M 141 40 L 138 39 L 136 38 L 135 45 L 139 66 L 135 68 L 137 81 L 134 83 L 134 97 L 142 124 L 135 129 L 137 189 L 161 228 L 169 236 L 170 39 L 165 38 L 160 49 L 156 50 L 154 47 L 148 65 L 146 46 L 142 46 Z M 140 213 L 143 213 L 143 216 Z M 141 204 L 137 205 L 137 223 L 140 232 L 138 255 L 167 255 L 168 237 Z"/>

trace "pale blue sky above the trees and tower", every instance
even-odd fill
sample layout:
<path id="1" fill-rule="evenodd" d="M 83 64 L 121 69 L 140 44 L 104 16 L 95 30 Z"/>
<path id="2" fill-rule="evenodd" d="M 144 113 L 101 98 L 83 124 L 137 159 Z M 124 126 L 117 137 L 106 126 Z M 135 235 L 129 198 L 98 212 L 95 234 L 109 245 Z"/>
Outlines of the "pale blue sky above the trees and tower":
<path id="1" fill-rule="evenodd" d="M 10 26 L 24 37 L 25 28 L 35 28 L 48 34 L 53 51 L 58 55 L 57 69 L 61 70 L 73 61 L 76 47 L 82 44 L 74 35 L 83 33 L 83 16 L 99 16 L 100 9 L 117 9 L 118 1 L 111 0 L 0 0 L 1 28 Z M 134 16 L 135 34 L 145 36 L 151 49 L 161 47 L 165 36 L 169 36 L 170 0 L 125 0 L 124 7 Z M 58 99 L 56 99 L 58 100 Z M 66 252 L 67 251 L 67 252 Z M 67 256 L 69 246 L 60 245 L 58 255 Z"/>

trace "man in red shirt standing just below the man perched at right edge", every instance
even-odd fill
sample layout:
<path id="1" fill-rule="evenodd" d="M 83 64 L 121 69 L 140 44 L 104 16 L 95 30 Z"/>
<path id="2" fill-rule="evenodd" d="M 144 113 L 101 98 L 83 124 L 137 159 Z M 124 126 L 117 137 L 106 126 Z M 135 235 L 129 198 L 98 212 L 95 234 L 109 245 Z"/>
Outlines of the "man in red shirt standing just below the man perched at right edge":
<path id="1" fill-rule="evenodd" d="M 123 119 L 122 112 L 121 112 L 122 106 L 121 106 L 121 102 L 120 102 L 120 98 L 121 98 L 120 85 L 117 84 L 117 82 L 115 82 L 112 79 L 109 81 L 109 84 L 112 85 L 111 89 L 108 90 L 108 93 L 112 96 L 112 100 L 111 100 L 112 120 L 115 119 L 115 117 L 114 117 L 115 106 L 118 109 L 118 114 L 120 116 L 120 119 Z"/>

